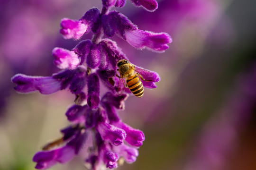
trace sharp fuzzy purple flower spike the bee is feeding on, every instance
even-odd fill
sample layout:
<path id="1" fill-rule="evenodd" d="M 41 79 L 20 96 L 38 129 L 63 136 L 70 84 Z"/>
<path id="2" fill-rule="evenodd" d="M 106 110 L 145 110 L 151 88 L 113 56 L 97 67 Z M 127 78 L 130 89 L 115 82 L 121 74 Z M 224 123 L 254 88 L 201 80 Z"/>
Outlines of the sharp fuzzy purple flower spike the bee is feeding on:
<path id="1" fill-rule="evenodd" d="M 136 6 L 154 11 L 155 0 L 131 0 Z M 37 152 L 33 161 L 36 169 L 48 169 L 57 162 L 65 163 L 82 150 L 87 150 L 85 159 L 91 170 L 102 165 L 117 168 L 120 160 L 136 161 L 137 148 L 145 140 L 142 131 L 123 123 L 117 110 L 124 109 L 129 90 L 118 94 L 119 77 L 117 63 L 127 59 L 116 42 L 109 38 L 115 34 L 137 49 L 163 52 L 172 40 L 166 33 L 152 33 L 137 28 L 123 14 L 110 11 L 112 7 L 123 7 L 126 0 L 102 0 L 103 8 L 89 9 L 79 20 L 61 20 L 60 33 L 65 39 L 79 39 L 90 31 L 91 40 L 79 42 L 72 50 L 54 48 L 54 64 L 63 69 L 52 76 L 26 76 L 17 74 L 11 78 L 19 93 L 39 91 L 51 94 L 69 89 L 75 95 L 75 104 L 65 115 L 72 123 L 61 130 L 63 137 L 46 144 Z M 107 38 L 103 38 L 103 36 Z M 134 67 L 137 67 L 133 65 Z M 137 67 L 139 68 L 139 67 Z M 148 74 L 150 72 L 150 74 Z M 155 88 L 160 77 L 153 71 L 140 69 L 142 84 Z M 100 81 L 108 92 L 100 97 Z M 92 141 L 90 145 L 89 141 Z"/>

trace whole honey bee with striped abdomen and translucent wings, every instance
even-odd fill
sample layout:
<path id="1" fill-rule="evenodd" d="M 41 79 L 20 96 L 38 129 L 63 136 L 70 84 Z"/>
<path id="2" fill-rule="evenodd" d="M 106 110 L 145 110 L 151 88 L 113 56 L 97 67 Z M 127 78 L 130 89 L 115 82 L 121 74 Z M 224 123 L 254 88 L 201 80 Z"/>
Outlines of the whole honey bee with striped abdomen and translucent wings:
<path id="1" fill-rule="evenodd" d="M 142 68 L 136 68 L 135 65 L 131 64 L 127 59 L 119 60 L 117 63 L 120 76 L 118 82 L 118 94 L 121 95 L 124 91 L 124 85 L 129 88 L 130 91 L 137 97 L 142 97 L 144 94 L 144 88 L 141 80 L 151 81 L 144 79 L 138 72 L 144 70 L 151 73 L 148 70 Z M 153 75 L 153 73 L 151 73 Z"/>

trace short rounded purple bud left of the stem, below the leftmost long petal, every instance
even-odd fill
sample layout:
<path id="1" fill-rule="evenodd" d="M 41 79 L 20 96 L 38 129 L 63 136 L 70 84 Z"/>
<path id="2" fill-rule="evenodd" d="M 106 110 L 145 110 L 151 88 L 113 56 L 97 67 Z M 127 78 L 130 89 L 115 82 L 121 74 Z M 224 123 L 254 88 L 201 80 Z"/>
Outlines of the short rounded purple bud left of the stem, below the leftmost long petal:
<path id="1" fill-rule="evenodd" d="M 73 105 L 66 112 L 67 119 L 72 122 L 83 122 L 87 108 L 88 108 L 87 105 L 85 106 Z"/>

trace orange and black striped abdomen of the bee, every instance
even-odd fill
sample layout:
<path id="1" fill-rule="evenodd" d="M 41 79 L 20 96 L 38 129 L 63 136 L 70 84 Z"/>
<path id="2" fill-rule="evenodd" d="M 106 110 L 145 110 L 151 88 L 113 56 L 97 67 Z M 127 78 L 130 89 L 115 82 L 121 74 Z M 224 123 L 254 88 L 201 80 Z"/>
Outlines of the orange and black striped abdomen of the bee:
<path id="1" fill-rule="evenodd" d="M 130 91 L 137 97 L 142 97 L 144 94 L 144 88 L 141 80 L 137 75 L 126 80 L 126 83 Z"/>

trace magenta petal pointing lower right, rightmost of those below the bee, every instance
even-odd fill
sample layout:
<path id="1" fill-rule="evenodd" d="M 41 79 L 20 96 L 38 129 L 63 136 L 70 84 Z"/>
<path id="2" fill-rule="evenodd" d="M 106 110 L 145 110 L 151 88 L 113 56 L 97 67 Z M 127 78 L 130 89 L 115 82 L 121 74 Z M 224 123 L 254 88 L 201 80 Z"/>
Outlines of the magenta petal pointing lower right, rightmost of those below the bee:
<path id="1" fill-rule="evenodd" d="M 121 121 L 114 122 L 113 125 L 123 129 L 126 132 L 127 136 L 125 140 L 132 146 L 140 147 L 145 140 L 145 136 L 142 131 L 134 129 Z"/>

